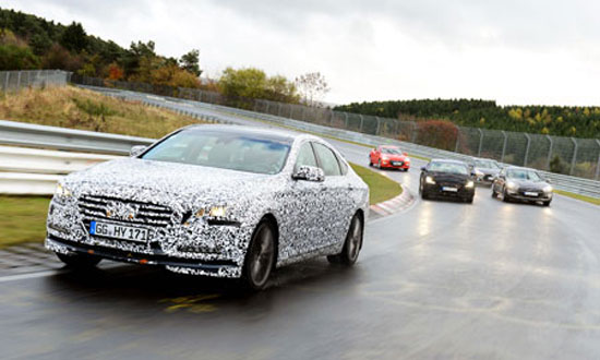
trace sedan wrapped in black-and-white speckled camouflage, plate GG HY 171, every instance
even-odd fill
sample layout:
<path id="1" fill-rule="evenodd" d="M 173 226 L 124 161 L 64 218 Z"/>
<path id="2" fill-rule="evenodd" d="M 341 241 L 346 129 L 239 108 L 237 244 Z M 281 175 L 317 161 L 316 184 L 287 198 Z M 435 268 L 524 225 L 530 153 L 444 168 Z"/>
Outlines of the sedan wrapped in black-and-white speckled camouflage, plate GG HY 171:
<path id="1" fill-rule="evenodd" d="M 67 176 L 46 247 L 73 267 L 109 259 L 262 289 L 308 257 L 352 265 L 368 211 L 367 184 L 322 139 L 194 125 Z"/>

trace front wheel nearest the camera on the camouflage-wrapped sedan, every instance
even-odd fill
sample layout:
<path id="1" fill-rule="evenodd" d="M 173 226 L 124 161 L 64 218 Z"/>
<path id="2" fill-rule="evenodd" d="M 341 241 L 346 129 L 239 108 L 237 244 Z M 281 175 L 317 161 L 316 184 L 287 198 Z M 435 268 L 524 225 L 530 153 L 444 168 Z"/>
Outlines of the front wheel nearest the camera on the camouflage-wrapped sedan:
<path id="1" fill-rule="evenodd" d="M 275 230 L 263 220 L 256 226 L 243 263 L 242 281 L 245 288 L 259 291 L 265 288 L 275 267 Z"/>

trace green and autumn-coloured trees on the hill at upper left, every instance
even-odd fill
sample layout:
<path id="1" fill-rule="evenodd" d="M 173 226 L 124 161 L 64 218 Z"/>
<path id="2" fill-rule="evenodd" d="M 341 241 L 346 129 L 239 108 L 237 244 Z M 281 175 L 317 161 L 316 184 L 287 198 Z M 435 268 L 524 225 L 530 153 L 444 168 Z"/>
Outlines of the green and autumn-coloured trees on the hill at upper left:
<path id="1" fill-rule="evenodd" d="M 180 59 L 156 53 L 154 41 L 124 49 L 88 35 L 82 24 L 65 26 L 0 9 L 0 70 L 62 69 L 79 75 L 199 87 L 199 50 Z"/>

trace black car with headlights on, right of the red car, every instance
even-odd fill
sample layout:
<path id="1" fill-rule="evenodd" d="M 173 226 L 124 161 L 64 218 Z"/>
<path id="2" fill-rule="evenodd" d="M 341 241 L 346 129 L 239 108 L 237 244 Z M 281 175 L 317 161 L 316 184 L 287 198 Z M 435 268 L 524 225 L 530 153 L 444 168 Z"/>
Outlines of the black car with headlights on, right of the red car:
<path id="1" fill-rule="evenodd" d="M 472 203 L 475 197 L 472 173 L 463 161 L 433 159 L 421 168 L 419 193 L 422 199 L 444 196 Z"/>

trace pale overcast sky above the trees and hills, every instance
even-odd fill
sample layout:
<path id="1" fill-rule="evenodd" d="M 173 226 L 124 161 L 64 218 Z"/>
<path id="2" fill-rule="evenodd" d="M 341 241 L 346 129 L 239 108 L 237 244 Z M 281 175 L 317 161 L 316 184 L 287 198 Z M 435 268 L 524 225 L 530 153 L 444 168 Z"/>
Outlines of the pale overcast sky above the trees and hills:
<path id="1" fill-rule="evenodd" d="M 599 1 L 3 0 L 123 47 L 200 49 L 211 76 L 320 71 L 337 104 L 485 98 L 600 105 Z"/>

